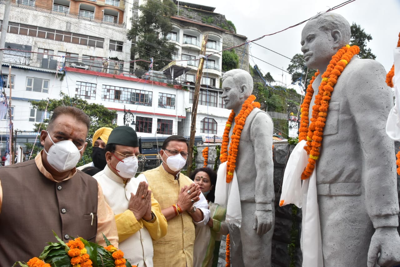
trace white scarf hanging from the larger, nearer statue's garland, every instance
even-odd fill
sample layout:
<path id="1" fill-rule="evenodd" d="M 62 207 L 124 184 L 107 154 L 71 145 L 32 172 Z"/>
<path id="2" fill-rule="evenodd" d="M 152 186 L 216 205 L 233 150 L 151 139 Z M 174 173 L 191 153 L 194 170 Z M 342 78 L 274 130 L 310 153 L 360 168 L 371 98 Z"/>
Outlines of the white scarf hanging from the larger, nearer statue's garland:
<path id="1" fill-rule="evenodd" d="M 320 216 L 318 212 L 316 172 L 301 184 L 301 175 L 308 163 L 306 141 L 300 141 L 290 154 L 283 176 L 280 206 L 295 204 L 302 208 L 301 249 L 303 267 L 323 267 Z"/>

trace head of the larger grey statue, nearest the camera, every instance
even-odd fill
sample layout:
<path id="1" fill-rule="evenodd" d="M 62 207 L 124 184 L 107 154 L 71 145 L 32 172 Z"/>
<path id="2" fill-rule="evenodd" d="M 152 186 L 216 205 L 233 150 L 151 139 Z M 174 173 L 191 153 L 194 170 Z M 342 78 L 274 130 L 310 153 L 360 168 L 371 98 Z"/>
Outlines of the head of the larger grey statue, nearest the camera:
<path id="1" fill-rule="evenodd" d="M 350 24 L 336 13 L 320 13 L 307 22 L 301 35 L 301 51 L 309 68 L 322 69 L 350 42 Z"/>

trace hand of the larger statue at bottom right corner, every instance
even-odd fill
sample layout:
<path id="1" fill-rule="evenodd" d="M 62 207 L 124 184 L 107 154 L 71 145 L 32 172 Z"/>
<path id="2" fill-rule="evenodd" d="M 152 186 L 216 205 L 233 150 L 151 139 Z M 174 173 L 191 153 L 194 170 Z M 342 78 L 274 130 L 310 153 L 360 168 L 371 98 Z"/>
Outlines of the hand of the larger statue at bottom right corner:
<path id="1" fill-rule="evenodd" d="M 378 253 L 380 256 L 378 258 Z M 400 263 L 400 236 L 396 227 L 378 227 L 368 250 L 368 267 L 393 266 Z"/>

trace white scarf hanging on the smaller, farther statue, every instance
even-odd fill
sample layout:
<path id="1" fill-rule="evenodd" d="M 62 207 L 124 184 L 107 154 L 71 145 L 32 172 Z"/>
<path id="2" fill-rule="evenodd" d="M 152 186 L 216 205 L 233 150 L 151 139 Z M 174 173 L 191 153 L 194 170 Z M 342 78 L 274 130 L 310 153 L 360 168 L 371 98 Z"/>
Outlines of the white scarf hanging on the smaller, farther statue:
<path id="1" fill-rule="evenodd" d="M 218 167 L 217 182 L 215 185 L 215 203 L 226 208 L 227 223 L 240 227 L 242 223 L 242 209 L 240 207 L 240 195 L 238 178 L 236 172 L 233 172 L 232 182 L 226 182 L 226 164 L 221 163 Z"/>

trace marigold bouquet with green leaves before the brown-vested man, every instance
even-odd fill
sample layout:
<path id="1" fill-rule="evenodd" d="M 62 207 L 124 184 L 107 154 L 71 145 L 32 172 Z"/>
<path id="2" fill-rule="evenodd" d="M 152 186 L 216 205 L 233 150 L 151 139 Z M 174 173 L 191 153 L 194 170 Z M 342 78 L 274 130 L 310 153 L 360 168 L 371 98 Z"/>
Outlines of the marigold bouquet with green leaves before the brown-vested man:
<path id="1" fill-rule="evenodd" d="M 22 267 L 132 267 L 124 259 L 124 253 L 111 245 L 103 235 L 107 246 L 86 241 L 82 237 L 64 243 L 57 235 L 58 243 L 48 242 L 39 257 L 30 259 L 27 263 L 20 261 L 14 266 Z M 136 266 L 133 266 L 136 267 Z"/>

